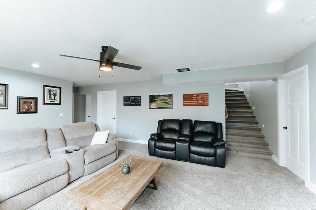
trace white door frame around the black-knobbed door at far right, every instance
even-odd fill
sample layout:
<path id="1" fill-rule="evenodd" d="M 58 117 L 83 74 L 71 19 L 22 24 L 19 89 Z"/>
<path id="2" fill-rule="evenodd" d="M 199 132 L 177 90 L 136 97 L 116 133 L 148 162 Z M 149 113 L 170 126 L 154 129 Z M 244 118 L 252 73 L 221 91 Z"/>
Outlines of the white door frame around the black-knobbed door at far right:
<path id="1" fill-rule="evenodd" d="M 284 93 L 285 93 L 285 80 L 293 76 L 303 73 L 304 81 L 304 109 L 305 109 L 305 122 L 304 122 L 304 132 L 305 132 L 305 186 L 313 191 L 308 185 L 312 184 L 310 182 L 310 120 L 309 120 L 309 88 L 308 88 L 308 65 L 304 65 L 296 70 L 292 70 L 282 76 L 277 77 L 277 99 L 278 99 L 278 154 L 279 154 L 279 165 L 285 166 L 285 132 L 282 127 L 285 125 L 285 103 L 284 103 Z"/>

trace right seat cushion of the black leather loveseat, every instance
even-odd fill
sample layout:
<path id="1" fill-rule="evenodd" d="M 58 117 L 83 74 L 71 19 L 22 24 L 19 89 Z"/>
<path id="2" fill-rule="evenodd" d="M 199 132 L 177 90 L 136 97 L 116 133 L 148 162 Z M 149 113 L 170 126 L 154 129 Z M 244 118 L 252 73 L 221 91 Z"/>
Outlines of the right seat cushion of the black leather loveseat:
<path id="1" fill-rule="evenodd" d="M 193 141 L 190 144 L 190 153 L 203 157 L 215 157 L 216 148 L 210 143 Z"/>

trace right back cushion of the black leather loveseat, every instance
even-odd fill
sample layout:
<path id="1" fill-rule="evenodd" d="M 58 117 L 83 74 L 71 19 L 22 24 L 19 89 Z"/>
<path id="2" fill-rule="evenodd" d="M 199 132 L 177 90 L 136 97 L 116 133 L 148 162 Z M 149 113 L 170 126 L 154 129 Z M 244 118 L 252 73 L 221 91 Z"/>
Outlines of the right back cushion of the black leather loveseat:
<path id="1" fill-rule="evenodd" d="M 217 138 L 217 123 L 195 120 L 193 125 L 193 141 L 211 143 Z"/>

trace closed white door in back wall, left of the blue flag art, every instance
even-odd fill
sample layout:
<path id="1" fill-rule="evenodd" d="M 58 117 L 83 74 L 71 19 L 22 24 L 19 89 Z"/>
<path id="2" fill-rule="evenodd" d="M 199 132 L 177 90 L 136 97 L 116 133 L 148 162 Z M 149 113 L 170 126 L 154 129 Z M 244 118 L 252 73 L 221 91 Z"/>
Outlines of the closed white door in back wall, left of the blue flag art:
<path id="1" fill-rule="evenodd" d="M 101 131 L 117 130 L 117 93 L 113 91 L 98 91 L 97 93 L 97 123 Z"/>

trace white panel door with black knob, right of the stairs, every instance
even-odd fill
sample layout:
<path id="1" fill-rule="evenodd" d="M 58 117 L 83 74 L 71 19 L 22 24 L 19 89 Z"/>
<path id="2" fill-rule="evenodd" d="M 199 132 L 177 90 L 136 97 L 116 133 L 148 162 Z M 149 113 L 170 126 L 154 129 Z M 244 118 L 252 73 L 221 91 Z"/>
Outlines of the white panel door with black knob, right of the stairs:
<path id="1" fill-rule="evenodd" d="M 284 81 L 285 167 L 305 180 L 306 135 L 303 72 Z"/>

